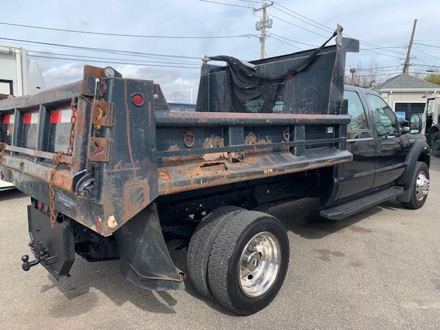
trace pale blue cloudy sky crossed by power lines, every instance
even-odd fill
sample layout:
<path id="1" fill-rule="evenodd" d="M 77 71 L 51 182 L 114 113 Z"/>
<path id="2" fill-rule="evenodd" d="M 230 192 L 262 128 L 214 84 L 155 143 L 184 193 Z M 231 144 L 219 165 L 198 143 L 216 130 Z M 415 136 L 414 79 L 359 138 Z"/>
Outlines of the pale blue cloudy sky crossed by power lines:
<path id="1" fill-rule="evenodd" d="M 246 61 L 260 56 L 257 37 L 260 32 L 255 30 L 255 23 L 261 19 L 261 11 L 254 13 L 252 8 L 259 8 L 261 1 L 210 1 L 229 5 L 199 0 L 3 0 L 1 23 L 155 37 L 84 34 L 0 24 L 0 45 L 25 47 L 30 58 L 39 63 L 47 87 L 80 80 L 85 64 L 110 65 L 126 78 L 159 83 L 167 100 L 195 102 L 204 55 L 230 55 Z M 413 74 L 429 74 L 426 70 L 440 69 L 439 13 L 439 0 L 278 0 L 267 9 L 273 27 L 267 30 L 266 57 L 321 45 L 331 35 L 329 28 L 336 28 L 339 23 L 344 35 L 361 40 L 361 51 L 347 54 L 347 67 L 358 68 L 358 74 L 366 72 L 362 70 L 365 68 L 380 67 L 377 72 L 380 79 L 391 78 L 401 72 L 412 24 L 418 19 L 410 70 Z"/>

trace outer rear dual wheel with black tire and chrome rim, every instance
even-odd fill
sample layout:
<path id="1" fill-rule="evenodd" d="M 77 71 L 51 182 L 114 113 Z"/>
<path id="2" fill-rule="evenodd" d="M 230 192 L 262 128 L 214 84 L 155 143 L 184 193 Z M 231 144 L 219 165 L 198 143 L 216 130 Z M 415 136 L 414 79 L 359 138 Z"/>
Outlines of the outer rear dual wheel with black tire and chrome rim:
<path id="1" fill-rule="evenodd" d="M 250 315 L 278 294 L 289 264 L 283 225 L 269 214 L 244 211 L 229 217 L 212 246 L 211 292 L 225 308 Z"/>

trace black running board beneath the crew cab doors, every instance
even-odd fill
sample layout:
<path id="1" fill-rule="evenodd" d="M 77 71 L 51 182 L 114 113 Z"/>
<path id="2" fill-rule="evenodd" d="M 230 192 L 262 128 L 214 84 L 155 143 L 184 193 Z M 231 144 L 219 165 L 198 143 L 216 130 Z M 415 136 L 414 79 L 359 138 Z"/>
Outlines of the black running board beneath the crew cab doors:
<path id="1" fill-rule="evenodd" d="M 354 201 L 347 201 L 332 208 L 326 208 L 321 210 L 321 217 L 325 217 L 331 220 L 340 220 L 349 217 L 355 213 L 358 213 L 367 208 L 371 208 L 377 204 L 387 201 L 388 199 L 395 198 L 404 192 L 404 188 L 401 187 L 391 187 L 373 194 L 366 195 L 355 199 Z"/>

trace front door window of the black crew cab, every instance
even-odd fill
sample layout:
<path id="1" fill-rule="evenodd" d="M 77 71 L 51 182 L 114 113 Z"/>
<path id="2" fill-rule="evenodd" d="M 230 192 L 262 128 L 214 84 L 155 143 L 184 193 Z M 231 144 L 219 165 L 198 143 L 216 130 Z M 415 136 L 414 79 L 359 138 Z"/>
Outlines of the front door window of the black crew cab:
<path id="1" fill-rule="evenodd" d="M 366 100 L 370 104 L 375 128 L 379 135 L 399 132 L 396 115 L 382 98 L 374 94 L 366 94 Z"/>

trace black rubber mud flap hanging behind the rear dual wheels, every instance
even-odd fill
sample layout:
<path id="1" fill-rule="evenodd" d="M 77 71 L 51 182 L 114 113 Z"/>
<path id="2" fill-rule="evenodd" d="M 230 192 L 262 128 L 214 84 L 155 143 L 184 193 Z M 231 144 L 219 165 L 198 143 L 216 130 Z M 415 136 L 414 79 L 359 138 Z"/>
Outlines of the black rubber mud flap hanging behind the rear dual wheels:
<path id="1" fill-rule="evenodd" d="M 175 267 L 151 204 L 115 232 L 121 272 L 131 283 L 151 290 L 184 289 L 184 273 Z"/>

